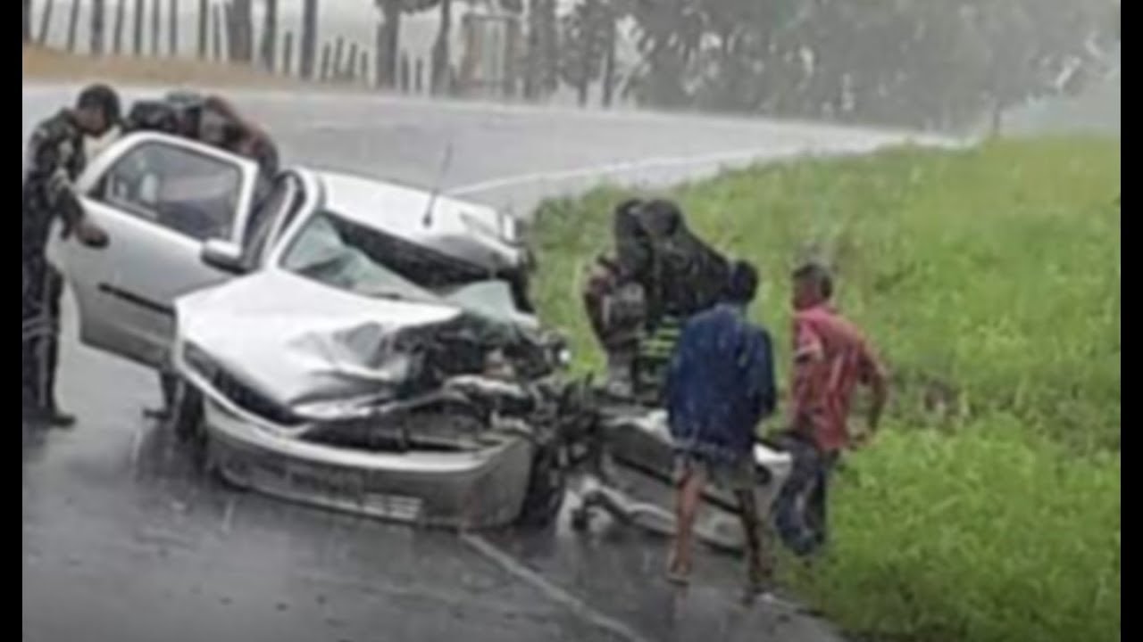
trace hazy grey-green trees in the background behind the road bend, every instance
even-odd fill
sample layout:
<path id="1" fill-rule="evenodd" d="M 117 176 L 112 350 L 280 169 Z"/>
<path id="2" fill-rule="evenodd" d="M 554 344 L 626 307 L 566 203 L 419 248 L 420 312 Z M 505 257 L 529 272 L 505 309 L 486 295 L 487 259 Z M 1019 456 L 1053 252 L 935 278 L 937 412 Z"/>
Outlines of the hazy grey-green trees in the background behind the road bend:
<path id="1" fill-rule="evenodd" d="M 376 2 L 390 79 L 400 15 L 439 7 L 441 78 L 453 0 Z M 622 91 L 646 106 L 941 129 L 1079 90 L 1119 40 L 1118 0 L 577 0 L 562 16 L 557 0 L 498 6 L 525 24 L 527 98 L 563 85 L 586 103 L 598 86 L 604 105 Z M 621 34 L 638 51 L 623 70 Z"/>

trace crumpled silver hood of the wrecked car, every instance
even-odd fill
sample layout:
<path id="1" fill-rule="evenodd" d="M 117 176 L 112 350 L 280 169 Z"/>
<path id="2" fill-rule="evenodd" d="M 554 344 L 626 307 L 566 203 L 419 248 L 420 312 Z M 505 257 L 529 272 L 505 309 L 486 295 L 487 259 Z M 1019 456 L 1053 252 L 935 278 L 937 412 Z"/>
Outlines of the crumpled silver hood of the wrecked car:
<path id="1" fill-rule="evenodd" d="M 387 394 L 410 366 L 389 350 L 397 331 L 462 315 L 443 302 L 367 298 L 280 271 L 193 292 L 175 307 L 179 369 L 202 376 L 206 359 L 301 415 L 325 401 Z"/>

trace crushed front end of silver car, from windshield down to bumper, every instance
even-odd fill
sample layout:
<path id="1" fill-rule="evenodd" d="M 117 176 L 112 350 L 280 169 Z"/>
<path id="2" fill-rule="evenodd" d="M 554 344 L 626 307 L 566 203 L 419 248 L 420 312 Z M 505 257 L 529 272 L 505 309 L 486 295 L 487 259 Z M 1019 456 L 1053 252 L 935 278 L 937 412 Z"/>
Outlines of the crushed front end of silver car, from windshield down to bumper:
<path id="1" fill-rule="evenodd" d="M 366 226 L 311 217 L 280 264 L 176 302 L 177 425 L 229 482 L 426 525 L 543 522 L 562 344 L 503 281 L 430 291 Z"/>

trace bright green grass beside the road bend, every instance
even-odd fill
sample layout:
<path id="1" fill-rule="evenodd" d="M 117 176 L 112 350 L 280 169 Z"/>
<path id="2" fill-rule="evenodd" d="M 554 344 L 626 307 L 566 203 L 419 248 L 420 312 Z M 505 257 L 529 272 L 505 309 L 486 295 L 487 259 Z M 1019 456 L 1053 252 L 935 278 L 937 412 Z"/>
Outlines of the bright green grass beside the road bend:
<path id="1" fill-rule="evenodd" d="M 873 639 L 1114 640 L 1119 628 L 1119 143 L 902 149 L 681 186 L 693 227 L 762 271 L 788 359 L 791 265 L 836 263 L 839 304 L 893 372 L 886 434 L 834 497 L 834 557 L 790 579 Z M 542 206 L 537 298 L 577 367 L 608 249 L 601 188 Z"/>

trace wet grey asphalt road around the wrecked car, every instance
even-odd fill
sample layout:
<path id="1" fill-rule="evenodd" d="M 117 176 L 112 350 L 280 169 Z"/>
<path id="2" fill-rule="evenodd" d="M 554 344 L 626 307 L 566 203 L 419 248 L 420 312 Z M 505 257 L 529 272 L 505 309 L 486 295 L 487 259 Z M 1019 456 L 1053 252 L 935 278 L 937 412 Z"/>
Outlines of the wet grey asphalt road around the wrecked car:
<path id="1" fill-rule="evenodd" d="M 71 99 L 25 88 L 25 141 Z M 663 184 L 724 161 L 895 139 L 353 96 L 238 102 L 287 159 L 439 180 L 518 212 L 600 175 Z M 454 160 L 438 178 L 449 144 Z M 67 305 L 59 396 L 79 426 L 23 440 L 25 641 L 837 640 L 789 604 L 740 605 L 733 560 L 700 557 L 692 588 L 672 591 L 663 543 L 634 532 L 582 538 L 562 520 L 550 532 L 457 537 L 221 488 L 142 418 L 158 395 L 153 377 L 74 337 Z"/>

